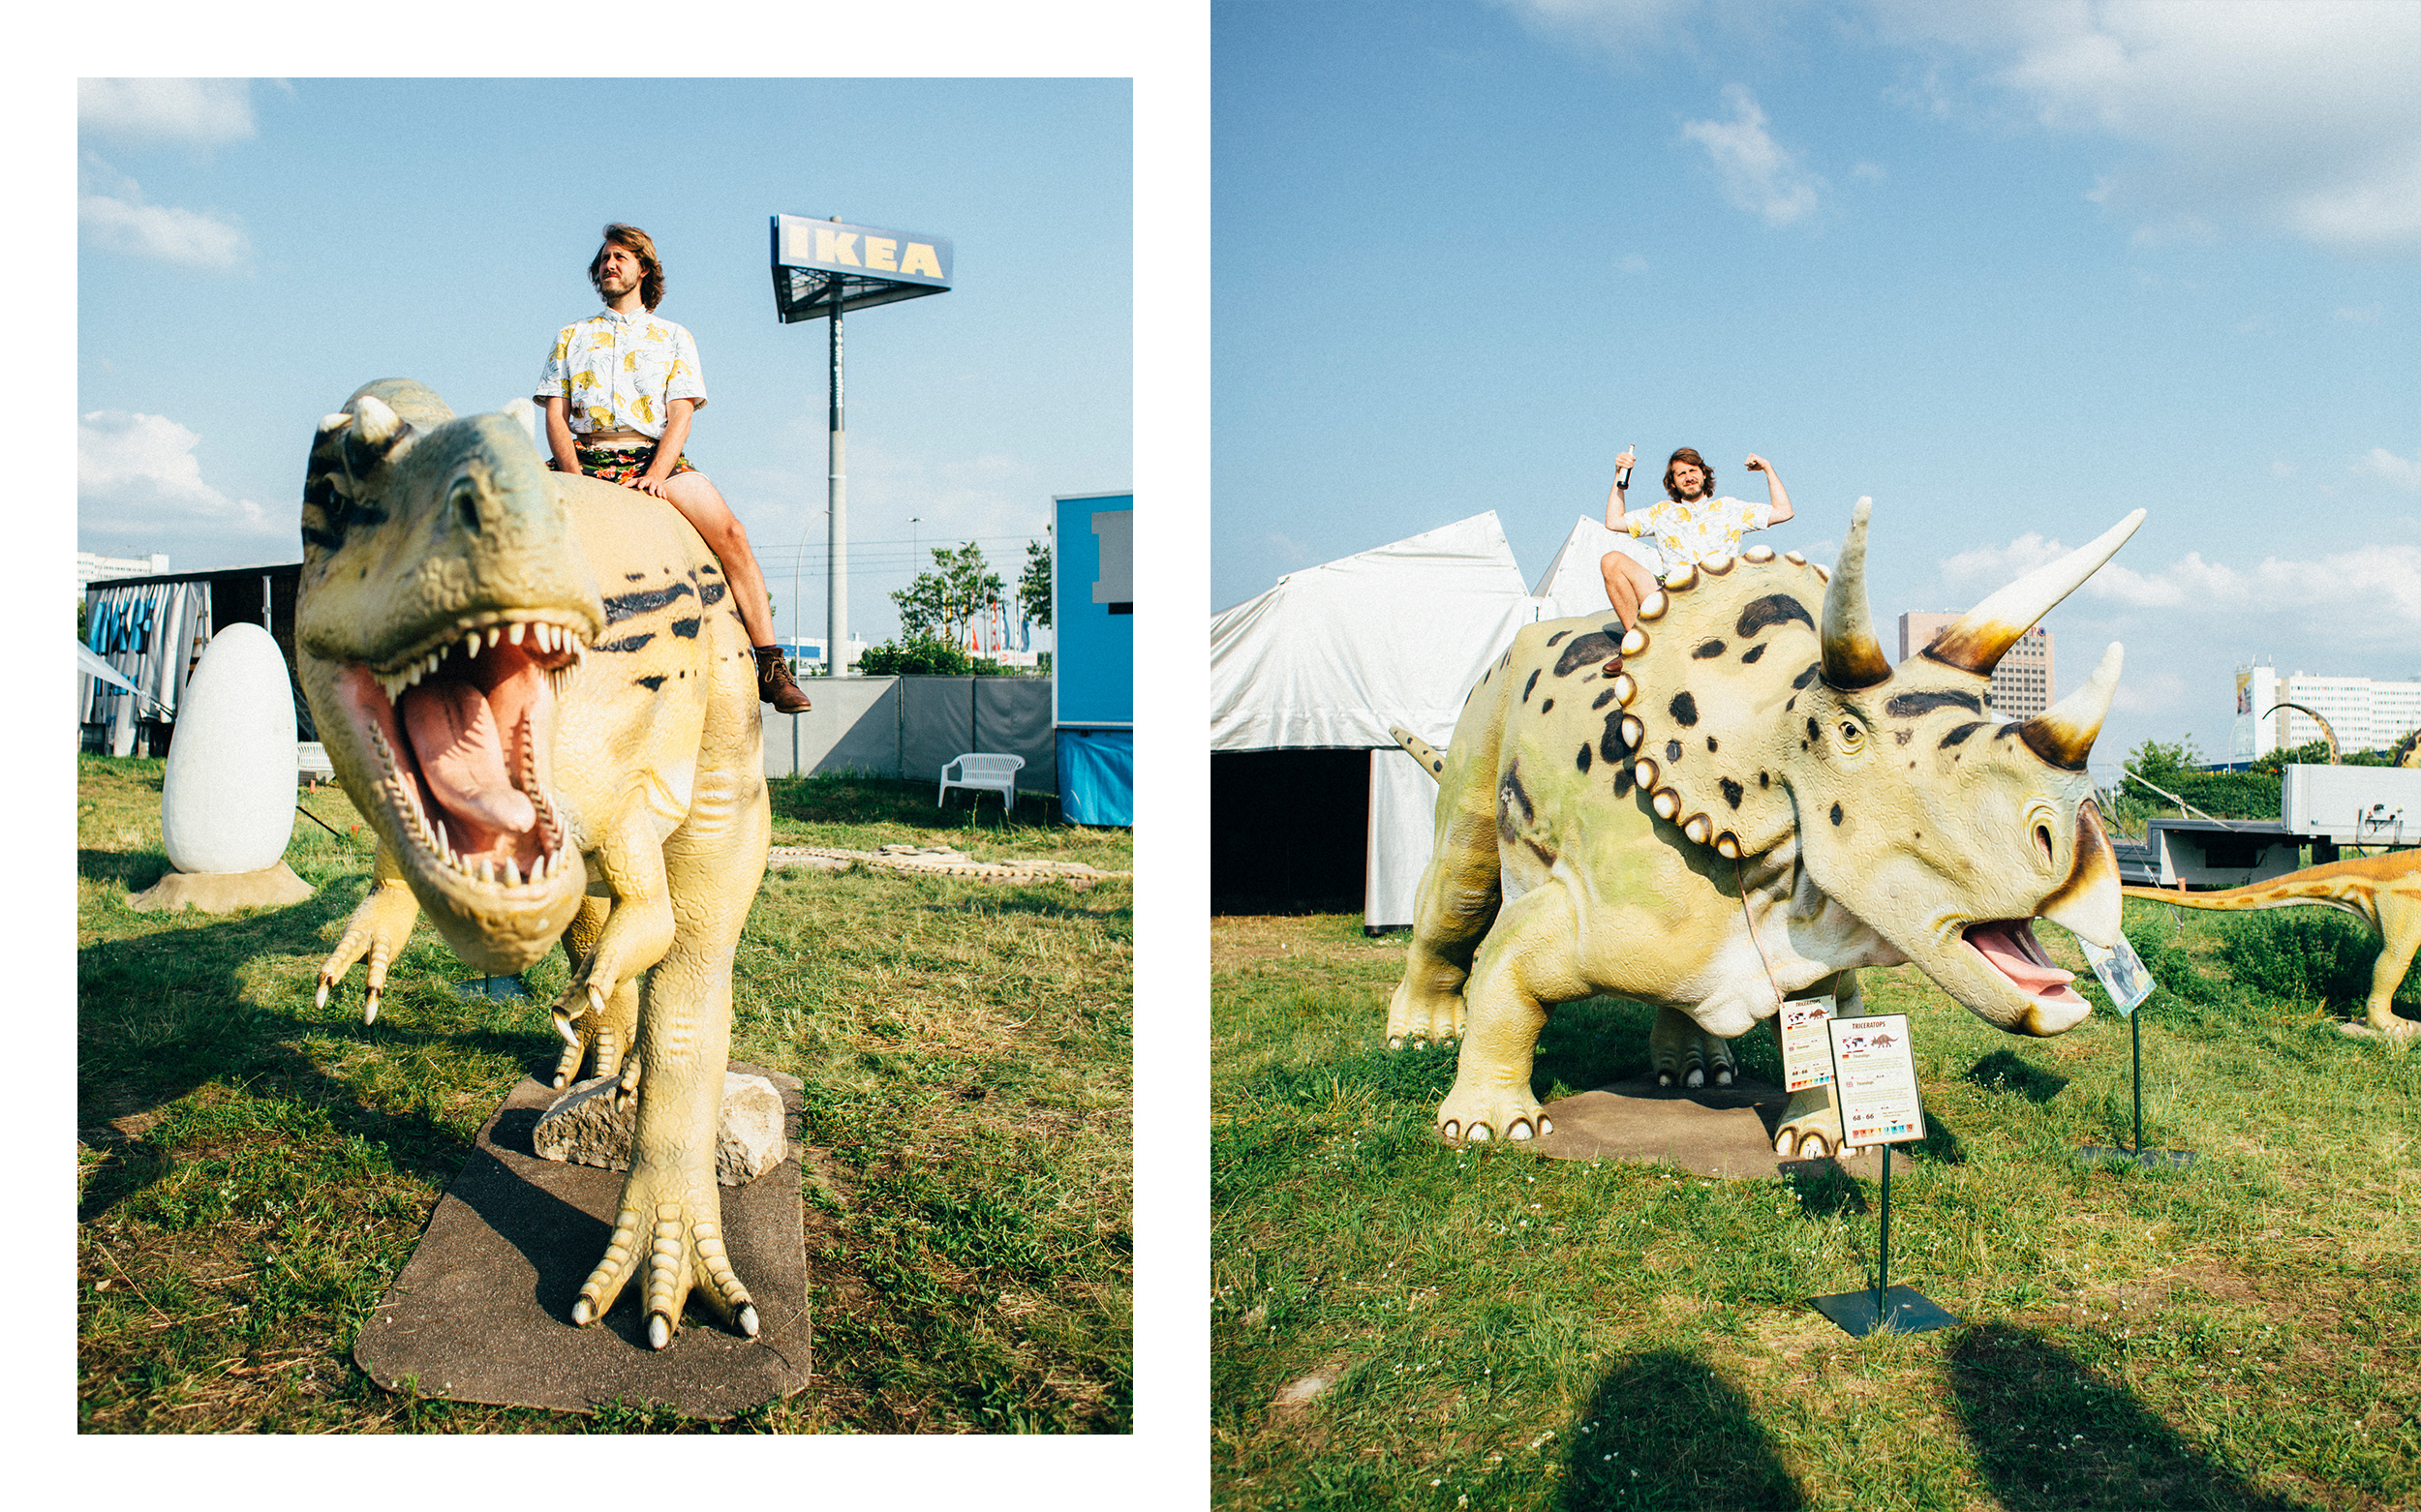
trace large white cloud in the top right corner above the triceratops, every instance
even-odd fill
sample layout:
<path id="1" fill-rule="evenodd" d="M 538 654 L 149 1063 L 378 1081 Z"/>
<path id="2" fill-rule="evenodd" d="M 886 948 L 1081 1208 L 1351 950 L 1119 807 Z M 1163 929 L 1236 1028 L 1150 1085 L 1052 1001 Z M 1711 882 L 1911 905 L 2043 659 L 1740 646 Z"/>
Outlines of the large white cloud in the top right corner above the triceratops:
<path id="1" fill-rule="evenodd" d="M 1886 41 L 1968 58 L 2038 126 L 2118 145 L 2089 198 L 2147 240 L 2252 223 L 2421 247 L 2421 5 L 1869 5 Z"/>

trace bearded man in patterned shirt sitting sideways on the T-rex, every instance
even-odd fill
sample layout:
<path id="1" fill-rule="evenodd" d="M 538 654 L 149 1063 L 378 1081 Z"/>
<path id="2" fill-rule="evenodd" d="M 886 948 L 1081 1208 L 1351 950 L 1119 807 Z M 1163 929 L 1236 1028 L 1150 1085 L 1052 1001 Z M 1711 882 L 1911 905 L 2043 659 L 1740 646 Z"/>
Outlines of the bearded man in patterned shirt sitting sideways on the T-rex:
<path id="1" fill-rule="evenodd" d="M 765 573 L 748 532 L 680 452 L 690 416 L 707 404 L 707 385 L 697 375 L 697 341 L 656 314 L 663 300 L 656 242 L 637 225 L 608 225 L 605 244 L 588 261 L 588 283 L 605 312 L 554 336 L 533 394 L 547 411 L 550 467 L 639 489 L 680 510 L 724 564 L 731 605 L 755 648 L 758 699 L 782 714 L 804 714 L 811 704 L 772 644 Z"/>

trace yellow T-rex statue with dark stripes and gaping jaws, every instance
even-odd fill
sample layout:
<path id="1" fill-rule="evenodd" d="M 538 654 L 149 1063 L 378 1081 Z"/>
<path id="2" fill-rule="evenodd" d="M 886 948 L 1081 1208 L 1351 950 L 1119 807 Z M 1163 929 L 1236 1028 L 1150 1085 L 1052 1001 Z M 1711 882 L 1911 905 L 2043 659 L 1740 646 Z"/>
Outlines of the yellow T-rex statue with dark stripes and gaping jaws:
<path id="1" fill-rule="evenodd" d="M 554 1084 L 620 1077 L 639 1101 L 571 1321 L 637 1277 L 659 1350 L 692 1289 L 755 1335 L 714 1130 L 772 813 L 755 663 L 714 554 L 661 501 L 550 472 L 528 402 L 455 419 L 387 377 L 312 438 L 295 648 L 337 781 L 378 832 L 320 1002 L 368 956 L 373 1021 L 421 910 L 494 975 L 564 936 Z"/>

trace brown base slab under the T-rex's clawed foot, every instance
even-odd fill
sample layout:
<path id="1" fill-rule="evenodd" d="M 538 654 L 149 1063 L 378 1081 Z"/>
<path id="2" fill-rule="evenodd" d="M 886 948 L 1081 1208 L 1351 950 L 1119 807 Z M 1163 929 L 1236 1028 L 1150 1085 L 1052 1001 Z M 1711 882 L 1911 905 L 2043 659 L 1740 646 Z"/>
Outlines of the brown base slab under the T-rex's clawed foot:
<path id="1" fill-rule="evenodd" d="M 760 1333 L 741 1338 L 702 1304 L 666 1350 L 646 1347 L 639 1287 L 600 1323 L 571 1326 L 581 1282 L 613 1239 L 620 1171 L 545 1161 L 537 1115 L 559 1096 L 523 1079 L 479 1130 L 404 1272 L 353 1343 L 380 1386 L 409 1377 L 421 1396 L 593 1413 L 620 1398 L 688 1418 L 731 1418 L 809 1379 L 806 1234 L 799 1207 L 799 1079 L 731 1062 L 782 1091 L 792 1154 L 724 1188 L 724 1243 L 755 1299 Z"/>

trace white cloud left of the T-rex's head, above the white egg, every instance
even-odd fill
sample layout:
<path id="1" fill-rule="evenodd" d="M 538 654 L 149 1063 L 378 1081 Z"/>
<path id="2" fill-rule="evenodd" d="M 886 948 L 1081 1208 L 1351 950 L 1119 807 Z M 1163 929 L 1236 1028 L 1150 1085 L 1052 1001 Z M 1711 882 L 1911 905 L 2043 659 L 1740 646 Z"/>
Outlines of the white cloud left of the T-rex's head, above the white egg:
<path id="1" fill-rule="evenodd" d="M 194 556 L 196 547 L 211 556 L 211 544 L 235 547 L 242 559 L 242 547 L 293 537 L 293 515 L 271 518 L 249 498 L 228 498 L 203 481 L 196 445 L 201 435 L 157 414 L 94 409 L 77 416 L 77 532 L 145 552 L 172 549 L 179 561 Z"/>

